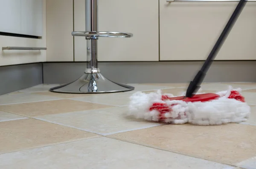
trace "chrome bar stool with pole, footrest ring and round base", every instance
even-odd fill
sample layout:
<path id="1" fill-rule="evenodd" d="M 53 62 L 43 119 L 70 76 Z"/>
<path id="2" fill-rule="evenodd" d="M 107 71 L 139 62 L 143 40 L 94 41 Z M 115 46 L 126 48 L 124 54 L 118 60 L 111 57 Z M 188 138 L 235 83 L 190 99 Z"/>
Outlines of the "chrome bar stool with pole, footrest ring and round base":
<path id="1" fill-rule="evenodd" d="M 97 40 L 99 37 L 132 37 L 131 33 L 98 32 L 98 0 L 85 0 L 85 32 L 72 32 L 73 36 L 86 37 L 87 41 L 87 68 L 77 80 L 49 91 L 59 93 L 112 93 L 134 90 L 128 86 L 113 82 L 105 78 L 98 68 Z"/>

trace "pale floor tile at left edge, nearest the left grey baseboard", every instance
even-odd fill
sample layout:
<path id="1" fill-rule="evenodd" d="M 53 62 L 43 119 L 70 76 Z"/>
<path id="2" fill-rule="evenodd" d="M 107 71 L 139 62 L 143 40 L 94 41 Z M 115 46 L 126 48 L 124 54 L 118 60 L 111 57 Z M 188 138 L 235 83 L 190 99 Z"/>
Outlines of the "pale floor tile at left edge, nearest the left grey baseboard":
<path id="1" fill-rule="evenodd" d="M 53 96 L 36 95 L 32 93 L 2 95 L 0 96 L 0 105 L 37 102 L 37 101 L 45 101 L 45 100 L 57 100 L 57 99 L 61 99 L 61 98 L 53 97 Z"/>

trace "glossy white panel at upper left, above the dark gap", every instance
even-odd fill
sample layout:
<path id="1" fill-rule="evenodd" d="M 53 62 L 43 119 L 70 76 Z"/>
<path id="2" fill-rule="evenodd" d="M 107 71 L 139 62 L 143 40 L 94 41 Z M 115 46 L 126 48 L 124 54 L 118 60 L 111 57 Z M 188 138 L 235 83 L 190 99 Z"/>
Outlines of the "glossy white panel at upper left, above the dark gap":
<path id="1" fill-rule="evenodd" d="M 43 0 L 0 0 L 0 32 L 43 36 Z"/>

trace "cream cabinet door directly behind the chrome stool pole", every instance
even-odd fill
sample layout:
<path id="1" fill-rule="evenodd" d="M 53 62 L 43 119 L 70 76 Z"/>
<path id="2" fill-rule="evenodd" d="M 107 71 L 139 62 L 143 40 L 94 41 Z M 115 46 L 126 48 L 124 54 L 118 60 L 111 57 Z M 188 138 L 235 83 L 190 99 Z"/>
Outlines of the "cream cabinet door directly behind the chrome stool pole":
<path id="1" fill-rule="evenodd" d="M 158 0 L 99 0 L 99 31 L 129 32 L 131 38 L 102 37 L 99 61 L 158 61 Z M 85 31 L 85 0 L 74 0 L 74 30 Z M 85 37 L 74 39 L 75 61 L 86 61 Z"/>

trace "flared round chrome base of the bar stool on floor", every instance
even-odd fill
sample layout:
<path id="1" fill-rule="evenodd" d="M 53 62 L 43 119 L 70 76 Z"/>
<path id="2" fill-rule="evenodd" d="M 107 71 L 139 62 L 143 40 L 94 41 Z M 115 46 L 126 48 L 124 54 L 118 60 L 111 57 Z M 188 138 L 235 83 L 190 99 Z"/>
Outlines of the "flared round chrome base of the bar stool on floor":
<path id="1" fill-rule="evenodd" d="M 84 73 L 79 79 L 71 83 L 50 89 L 51 92 L 78 94 L 127 92 L 131 90 L 134 90 L 133 86 L 108 80 L 101 73 Z"/>

